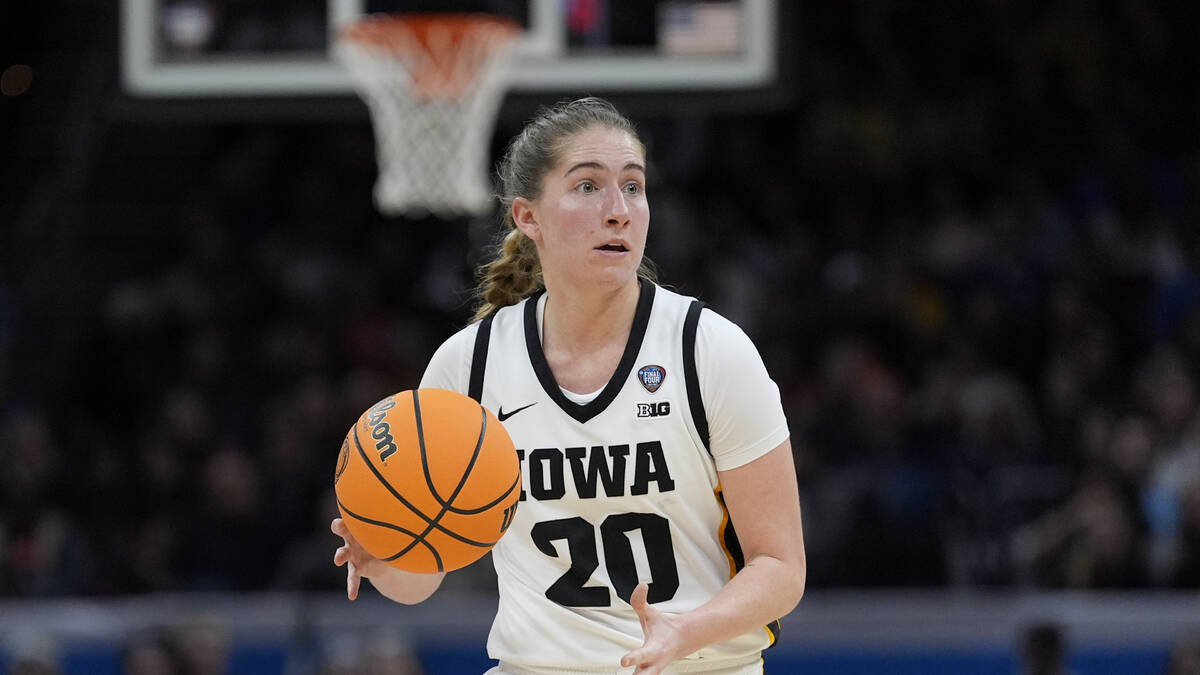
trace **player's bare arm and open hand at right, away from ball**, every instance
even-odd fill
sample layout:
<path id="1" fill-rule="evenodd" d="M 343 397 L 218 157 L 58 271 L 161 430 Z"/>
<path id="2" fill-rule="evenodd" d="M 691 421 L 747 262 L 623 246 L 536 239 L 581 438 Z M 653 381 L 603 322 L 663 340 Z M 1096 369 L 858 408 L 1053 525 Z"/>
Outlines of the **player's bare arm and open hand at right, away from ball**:
<path id="1" fill-rule="evenodd" d="M 656 675 L 672 661 L 764 627 L 792 611 L 804 595 L 804 532 L 792 443 L 784 441 L 718 474 L 746 565 L 713 599 L 678 615 L 647 603 L 648 587 L 638 585 L 630 602 L 646 640 L 620 659 L 623 667 L 636 665 L 636 675 Z"/>

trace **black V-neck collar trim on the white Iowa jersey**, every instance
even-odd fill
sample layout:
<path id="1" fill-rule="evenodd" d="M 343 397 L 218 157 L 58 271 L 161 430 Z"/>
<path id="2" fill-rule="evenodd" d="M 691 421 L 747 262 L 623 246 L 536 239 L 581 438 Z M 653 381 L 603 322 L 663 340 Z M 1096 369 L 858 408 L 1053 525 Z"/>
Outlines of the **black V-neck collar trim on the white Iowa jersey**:
<path id="1" fill-rule="evenodd" d="M 558 381 L 554 380 L 554 374 L 550 371 L 546 353 L 541 348 L 541 338 L 538 335 L 538 300 L 541 299 L 541 294 L 545 291 L 539 291 L 526 300 L 526 350 L 529 352 L 529 363 L 533 365 L 533 370 L 538 375 L 538 381 L 541 382 L 541 388 L 546 392 L 546 395 L 563 412 L 571 416 L 580 424 L 587 423 L 608 407 L 608 404 L 617 398 L 622 387 L 625 386 L 625 381 L 629 378 L 629 374 L 637 362 L 637 354 L 642 350 L 642 340 L 646 338 L 646 328 L 650 323 L 650 309 L 654 306 L 654 291 L 656 286 L 643 281 L 641 287 L 642 289 L 637 298 L 637 309 L 634 311 L 634 325 L 629 330 L 629 340 L 625 342 L 625 352 L 620 356 L 620 363 L 617 364 L 617 370 L 613 371 L 612 378 L 608 380 L 608 384 L 600 392 L 600 395 L 583 405 L 568 399 L 563 394 L 563 390 L 559 389 Z"/>

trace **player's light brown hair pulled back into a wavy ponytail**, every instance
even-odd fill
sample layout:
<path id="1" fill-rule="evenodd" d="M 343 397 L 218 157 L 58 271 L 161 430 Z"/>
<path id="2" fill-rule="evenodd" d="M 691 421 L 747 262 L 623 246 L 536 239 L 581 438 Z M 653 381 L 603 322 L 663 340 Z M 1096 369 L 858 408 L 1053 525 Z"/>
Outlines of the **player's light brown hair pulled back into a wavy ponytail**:
<path id="1" fill-rule="evenodd" d="M 535 201 L 541 196 L 541 180 L 558 163 L 566 142 L 584 130 L 601 126 L 628 133 L 642 148 L 634 124 L 604 98 L 589 96 L 542 108 L 509 144 L 497 169 L 500 179 L 500 207 L 504 227 L 492 259 L 480 265 L 475 287 L 475 316 L 479 321 L 500 307 L 515 305 L 522 298 L 545 287 L 541 261 L 533 240 L 512 221 L 512 201 Z M 637 275 L 655 281 L 654 267 L 642 257 Z"/>

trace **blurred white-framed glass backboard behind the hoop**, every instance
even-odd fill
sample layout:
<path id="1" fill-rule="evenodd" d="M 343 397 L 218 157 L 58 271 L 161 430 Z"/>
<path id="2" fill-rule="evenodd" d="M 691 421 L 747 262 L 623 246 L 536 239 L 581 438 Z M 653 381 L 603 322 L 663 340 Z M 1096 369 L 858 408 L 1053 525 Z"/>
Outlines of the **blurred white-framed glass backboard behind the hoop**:
<path id="1" fill-rule="evenodd" d="M 136 97 L 350 95 L 330 55 L 365 13 L 484 11 L 524 29 L 518 92 L 727 91 L 778 71 L 778 0 L 121 0 L 121 73 Z"/>

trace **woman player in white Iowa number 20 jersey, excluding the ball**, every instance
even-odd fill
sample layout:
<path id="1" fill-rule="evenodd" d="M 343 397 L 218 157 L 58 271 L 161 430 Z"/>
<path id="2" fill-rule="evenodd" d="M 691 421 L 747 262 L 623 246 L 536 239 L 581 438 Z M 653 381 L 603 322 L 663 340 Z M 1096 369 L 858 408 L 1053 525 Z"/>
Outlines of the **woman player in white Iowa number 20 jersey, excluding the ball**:
<path id="1" fill-rule="evenodd" d="M 421 381 L 496 412 L 522 459 L 490 673 L 762 673 L 805 580 L 778 388 L 740 329 L 646 273 L 646 151 L 610 103 L 545 110 L 500 178 L 478 321 Z M 364 577 L 402 603 L 442 581 L 332 530 L 350 599 Z"/>

